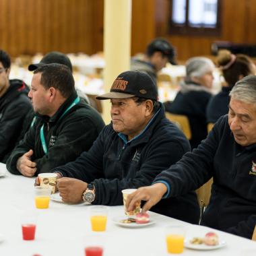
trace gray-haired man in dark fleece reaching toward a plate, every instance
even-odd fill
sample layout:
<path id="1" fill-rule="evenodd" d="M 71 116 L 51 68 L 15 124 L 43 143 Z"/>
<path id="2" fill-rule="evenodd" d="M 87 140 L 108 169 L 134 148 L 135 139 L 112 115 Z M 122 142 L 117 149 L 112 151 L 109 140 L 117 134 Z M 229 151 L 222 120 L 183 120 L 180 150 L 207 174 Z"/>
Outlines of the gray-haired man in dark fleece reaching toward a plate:
<path id="1" fill-rule="evenodd" d="M 141 187 L 127 201 L 128 210 L 145 200 L 149 210 L 162 197 L 195 190 L 212 177 L 210 203 L 201 224 L 252 237 L 256 224 L 256 76 L 236 83 L 230 92 L 228 115 L 192 153 L 164 170 L 150 187 Z"/>

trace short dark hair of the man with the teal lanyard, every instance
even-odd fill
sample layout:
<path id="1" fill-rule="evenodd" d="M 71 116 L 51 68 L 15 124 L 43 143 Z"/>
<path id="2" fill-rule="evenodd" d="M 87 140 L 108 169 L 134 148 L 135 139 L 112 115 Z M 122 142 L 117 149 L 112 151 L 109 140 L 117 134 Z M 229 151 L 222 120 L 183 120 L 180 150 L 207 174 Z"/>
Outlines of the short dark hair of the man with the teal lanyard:
<path id="1" fill-rule="evenodd" d="M 75 81 L 71 70 L 62 64 L 51 63 L 42 65 L 34 74 L 42 73 L 40 83 L 44 88 L 51 87 L 59 90 L 64 98 L 69 98 L 75 92 Z"/>

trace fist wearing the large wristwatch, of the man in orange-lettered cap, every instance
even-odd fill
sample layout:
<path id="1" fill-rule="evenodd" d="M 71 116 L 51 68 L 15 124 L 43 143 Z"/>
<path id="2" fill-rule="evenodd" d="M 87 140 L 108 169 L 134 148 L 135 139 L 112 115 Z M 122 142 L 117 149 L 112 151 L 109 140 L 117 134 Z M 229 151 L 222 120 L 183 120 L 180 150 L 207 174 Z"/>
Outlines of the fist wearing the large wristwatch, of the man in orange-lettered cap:
<path id="1" fill-rule="evenodd" d="M 82 201 L 82 193 L 87 188 L 87 183 L 73 178 L 61 178 L 57 180 L 59 195 L 67 203 L 79 203 Z"/>

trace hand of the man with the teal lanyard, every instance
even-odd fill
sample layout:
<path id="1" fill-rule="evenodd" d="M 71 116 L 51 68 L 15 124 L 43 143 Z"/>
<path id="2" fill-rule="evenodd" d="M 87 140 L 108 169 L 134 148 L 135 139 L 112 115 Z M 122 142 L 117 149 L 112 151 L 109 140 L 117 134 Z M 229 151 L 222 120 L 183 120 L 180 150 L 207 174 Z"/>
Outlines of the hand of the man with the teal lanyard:
<path id="1" fill-rule="evenodd" d="M 31 156 L 33 154 L 33 150 L 26 152 L 23 156 L 18 158 L 16 168 L 19 172 L 26 177 L 33 177 L 36 172 L 36 162 L 32 162 Z"/>

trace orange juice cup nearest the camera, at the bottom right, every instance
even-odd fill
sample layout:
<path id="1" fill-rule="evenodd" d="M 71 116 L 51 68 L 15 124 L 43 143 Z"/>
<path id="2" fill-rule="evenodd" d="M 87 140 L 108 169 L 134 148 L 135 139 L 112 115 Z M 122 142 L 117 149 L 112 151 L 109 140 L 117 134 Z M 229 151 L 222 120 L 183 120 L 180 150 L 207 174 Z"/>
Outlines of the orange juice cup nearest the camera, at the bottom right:
<path id="1" fill-rule="evenodd" d="M 183 253 L 185 238 L 184 226 L 167 226 L 165 237 L 168 253 Z"/>

